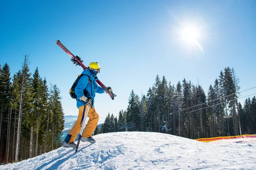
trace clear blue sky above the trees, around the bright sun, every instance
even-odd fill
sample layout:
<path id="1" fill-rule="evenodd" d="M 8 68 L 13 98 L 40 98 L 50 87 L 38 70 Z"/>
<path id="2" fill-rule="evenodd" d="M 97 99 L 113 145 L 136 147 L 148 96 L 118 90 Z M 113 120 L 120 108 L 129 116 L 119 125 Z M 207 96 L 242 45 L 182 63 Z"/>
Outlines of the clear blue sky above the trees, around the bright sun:
<path id="1" fill-rule="evenodd" d="M 55 44 L 60 40 L 85 65 L 102 67 L 99 79 L 117 95 L 113 101 L 96 95 L 104 121 L 108 113 L 118 116 L 127 108 L 131 90 L 146 94 L 157 75 L 175 85 L 184 78 L 199 82 L 207 93 L 229 66 L 241 91 L 255 87 L 255 9 L 255 0 L 2 0 L 0 64 L 7 62 L 13 75 L 30 54 L 30 71 L 38 67 L 60 88 L 65 115 L 77 115 L 68 91 L 82 69 Z M 181 38 L 180 30 L 188 26 L 196 28 L 201 48 Z"/>

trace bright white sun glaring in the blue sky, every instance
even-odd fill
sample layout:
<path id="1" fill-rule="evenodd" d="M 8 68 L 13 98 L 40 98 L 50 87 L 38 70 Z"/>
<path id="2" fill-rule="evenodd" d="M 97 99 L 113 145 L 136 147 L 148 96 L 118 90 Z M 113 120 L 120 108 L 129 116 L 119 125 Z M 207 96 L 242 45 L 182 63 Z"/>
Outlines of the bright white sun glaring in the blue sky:
<path id="1" fill-rule="evenodd" d="M 198 40 L 201 38 L 200 30 L 193 25 L 184 26 L 179 31 L 180 39 L 188 44 L 189 46 L 196 45 L 201 51 L 204 51 L 202 46 L 199 44 Z"/>

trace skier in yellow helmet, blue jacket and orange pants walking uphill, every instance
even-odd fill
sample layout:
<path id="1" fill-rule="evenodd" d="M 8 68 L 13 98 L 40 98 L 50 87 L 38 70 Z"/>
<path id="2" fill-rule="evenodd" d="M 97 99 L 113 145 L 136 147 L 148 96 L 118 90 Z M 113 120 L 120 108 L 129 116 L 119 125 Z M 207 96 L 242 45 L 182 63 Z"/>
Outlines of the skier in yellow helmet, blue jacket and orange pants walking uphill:
<path id="1" fill-rule="evenodd" d="M 84 128 L 81 141 L 82 142 L 96 142 L 91 136 L 97 126 L 99 121 L 99 115 L 96 112 L 93 103 L 95 93 L 102 94 L 104 93 L 104 89 L 97 85 L 96 80 L 98 79 L 96 75 L 100 71 L 100 66 L 98 62 L 91 62 L 88 66 L 88 69 L 84 70 L 82 74 L 86 74 L 79 79 L 78 84 L 76 85 L 75 92 L 76 92 L 76 106 L 79 108 L 78 118 L 76 123 L 73 125 L 72 129 L 67 134 L 66 138 L 63 141 L 63 147 L 73 147 L 76 148 L 76 144 L 74 143 L 77 134 L 81 130 L 81 120 L 84 115 L 85 105 L 90 106 L 88 117 L 89 120 L 87 125 Z M 89 78 L 90 77 L 90 78 Z M 112 88 L 108 87 L 108 92 L 112 92 Z M 88 107 L 87 106 L 87 107 Z"/>

